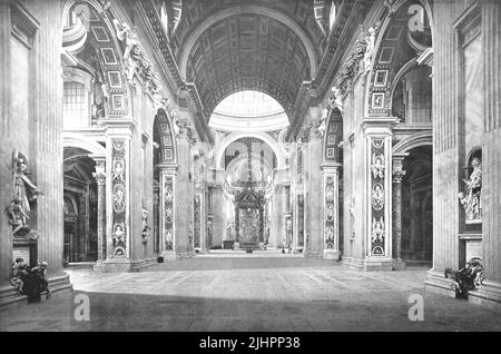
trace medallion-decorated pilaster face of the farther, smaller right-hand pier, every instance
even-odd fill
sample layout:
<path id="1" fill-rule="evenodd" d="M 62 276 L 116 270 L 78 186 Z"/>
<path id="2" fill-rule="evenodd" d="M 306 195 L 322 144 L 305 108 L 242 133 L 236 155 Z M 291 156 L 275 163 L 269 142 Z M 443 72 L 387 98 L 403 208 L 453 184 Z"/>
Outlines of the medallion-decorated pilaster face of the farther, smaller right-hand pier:
<path id="1" fill-rule="evenodd" d="M 340 259 L 340 177 L 341 164 L 322 165 L 323 175 L 323 257 Z"/>

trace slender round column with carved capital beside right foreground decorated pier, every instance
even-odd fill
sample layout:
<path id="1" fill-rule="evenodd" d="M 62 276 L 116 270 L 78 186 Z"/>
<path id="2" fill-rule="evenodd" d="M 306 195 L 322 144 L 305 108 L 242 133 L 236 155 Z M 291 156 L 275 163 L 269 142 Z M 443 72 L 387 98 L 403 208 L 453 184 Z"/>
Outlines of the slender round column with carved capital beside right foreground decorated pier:
<path id="1" fill-rule="evenodd" d="M 405 170 L 402 169 L 402 161 L 409 154 L 400 156 L 393 155 L 393 268 L 396 271 L 404 269 L 405 263 L 402 260 L 402 178 Z"/>

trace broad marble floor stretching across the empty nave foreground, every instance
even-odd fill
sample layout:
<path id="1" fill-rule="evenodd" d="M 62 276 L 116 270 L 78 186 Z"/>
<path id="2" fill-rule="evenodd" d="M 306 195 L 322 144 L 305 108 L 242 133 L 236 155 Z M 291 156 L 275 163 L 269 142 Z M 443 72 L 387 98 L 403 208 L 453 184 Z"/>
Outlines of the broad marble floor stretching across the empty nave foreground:
<path id="1" fill-rule="evenodd" d="M 0 309 L 1 331 L 501 331 L 497 307 L 424 291 L 426 268 L 355 272 L 332 260 L 279 252 L 219 252 L 148 272 L 70 268 L 72 297 Z M 409 297 L 424 321 L 409 319 Z"/>

